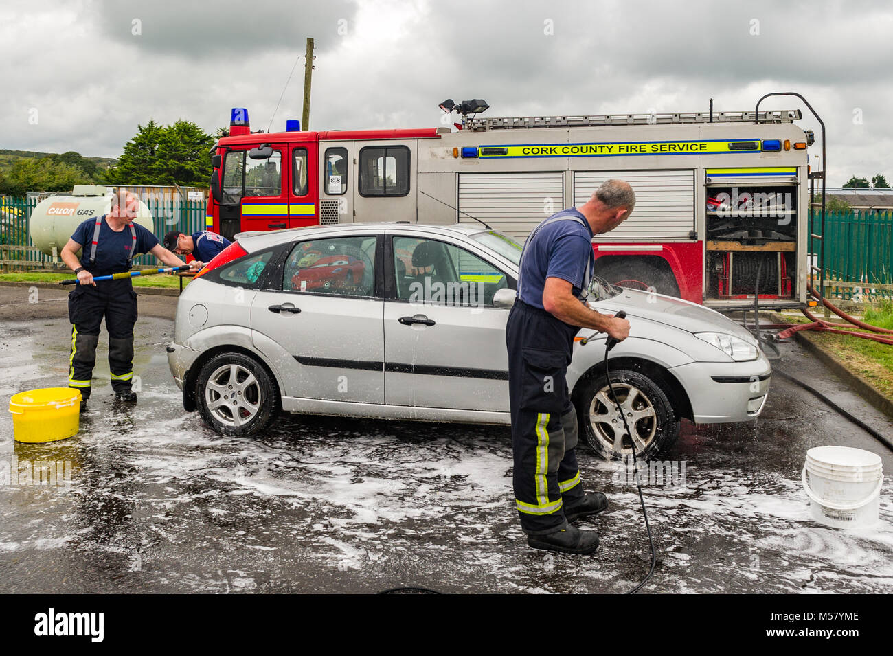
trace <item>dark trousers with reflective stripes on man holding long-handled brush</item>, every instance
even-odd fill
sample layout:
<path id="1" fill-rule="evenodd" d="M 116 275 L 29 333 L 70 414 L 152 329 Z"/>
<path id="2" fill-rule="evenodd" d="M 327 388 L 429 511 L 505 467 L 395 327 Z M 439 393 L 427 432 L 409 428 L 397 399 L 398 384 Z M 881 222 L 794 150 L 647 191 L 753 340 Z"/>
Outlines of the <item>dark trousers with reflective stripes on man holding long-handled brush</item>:
<path id="1" fill-rule="evenodd" d="M 68 295 L 71 321 L 71 357 L 68 384 L 90 396 L 90 379 L 96 364 L 99 327 L 105 319 L 109 333 L 109 370 L 112 388 L 129 392 L 133 378 L 133 326 L 137 322 L 137 295 L 129 280 L 110 280 L 76 286 Z"/>

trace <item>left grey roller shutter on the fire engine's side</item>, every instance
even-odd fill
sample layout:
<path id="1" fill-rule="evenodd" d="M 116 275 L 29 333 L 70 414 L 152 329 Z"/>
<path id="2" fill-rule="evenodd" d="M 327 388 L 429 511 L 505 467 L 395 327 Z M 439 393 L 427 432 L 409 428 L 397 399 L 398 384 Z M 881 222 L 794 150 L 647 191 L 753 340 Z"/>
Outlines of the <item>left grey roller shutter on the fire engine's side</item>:
<path id="1" fill-rule="evenodd" d="M 460 173 L 459 209 L 523 242 L 540 221 L 564 209 L 562 180 L 560 171 Z M 474 222 L 463 214 L 459 220 Z"/>

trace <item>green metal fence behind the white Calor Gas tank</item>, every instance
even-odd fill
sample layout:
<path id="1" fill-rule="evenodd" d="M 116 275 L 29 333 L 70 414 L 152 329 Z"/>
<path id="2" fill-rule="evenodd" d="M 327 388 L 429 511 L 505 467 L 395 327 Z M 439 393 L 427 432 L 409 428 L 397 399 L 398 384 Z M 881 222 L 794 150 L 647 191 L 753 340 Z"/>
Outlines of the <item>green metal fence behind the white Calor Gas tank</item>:
<path id="1" fill-rule="evenodd" d="M 38 269 L 53 262 L 50 255 L 34 248 L 29 237 L 31 214 L 38 202 L 37 198 L 0 198 L 0 261 L 4 268 Z M 144 203 L 152 213 L 154 235 L 159 241 L 171 230 L 188 235 L 205 229 L 204 201 L 165 201 L 150 197 Z M 154 255 L 141 255 L 134 260 L 137 266 L 156 263 Z"/>

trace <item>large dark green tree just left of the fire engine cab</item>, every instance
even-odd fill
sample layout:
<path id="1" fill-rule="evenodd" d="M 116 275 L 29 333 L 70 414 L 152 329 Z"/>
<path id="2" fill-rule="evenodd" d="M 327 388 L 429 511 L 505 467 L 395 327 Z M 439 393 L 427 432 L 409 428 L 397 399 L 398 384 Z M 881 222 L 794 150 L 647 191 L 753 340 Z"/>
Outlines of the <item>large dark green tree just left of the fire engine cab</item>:
<path id="1" fill-rule="evenodd" d="M 211 176 L 214 138 L 195 123 L 178 120 L 162 126 L 149 120 L 124 146 L 117 166 L 105 180 L 117 185 L 187 185 L 204 187 Z"/>

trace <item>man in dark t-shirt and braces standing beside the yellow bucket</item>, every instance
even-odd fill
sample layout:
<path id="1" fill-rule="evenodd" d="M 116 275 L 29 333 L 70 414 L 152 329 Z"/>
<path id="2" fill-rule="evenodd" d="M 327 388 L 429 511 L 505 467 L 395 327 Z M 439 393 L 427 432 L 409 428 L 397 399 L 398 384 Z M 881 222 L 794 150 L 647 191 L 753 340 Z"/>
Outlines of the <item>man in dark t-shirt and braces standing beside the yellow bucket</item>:
<path id="1" fill-rule="evenodd" d="M 68 295 L 71 320 L 71 356 L 68 385 L 80 390 L 80 409 L 86 408 L 96 363 L 96 345 L 103 318 L 109 333 L 109 369 L 115 398 L 136 401 L 133 380 L 133 326 L 137 322 L 137 295 L 130 278 L 100 280 L 130 270 L 139 253 L 152 253 L 171 267 L 185 266 L 166 250 L 146 228 L 134 221 L 139 212 L 136 195 L 126 191 L 112 196 L 111 210 L 91 217 L 75 229 L 62 249 L 62 260 L 78 276 L 78 286 Z M 76 253 L 81 251 L 80 259 Z"/>

